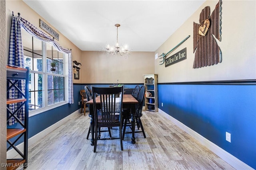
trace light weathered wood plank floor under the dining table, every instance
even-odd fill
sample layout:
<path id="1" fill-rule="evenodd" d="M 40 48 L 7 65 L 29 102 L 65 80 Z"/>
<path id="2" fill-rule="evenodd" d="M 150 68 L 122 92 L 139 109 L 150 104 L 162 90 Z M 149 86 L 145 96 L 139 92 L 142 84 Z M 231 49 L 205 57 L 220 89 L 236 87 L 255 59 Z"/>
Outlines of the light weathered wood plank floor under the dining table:
<path id="1" fill-rule="evenodd" d="M 98 141 L 94 153 L 86 139 L 88 112 L 79 113 L 28 148 L 26 170 L 234 169 L 162 115 L 144 111 L 142 123 L 146 139 L 136 133 L 136 144 L 131 144 L 131 134 L 126 134 L 123 151 L 119 139 Z M 111 131 L 117 136 L 118 129 Z"/>

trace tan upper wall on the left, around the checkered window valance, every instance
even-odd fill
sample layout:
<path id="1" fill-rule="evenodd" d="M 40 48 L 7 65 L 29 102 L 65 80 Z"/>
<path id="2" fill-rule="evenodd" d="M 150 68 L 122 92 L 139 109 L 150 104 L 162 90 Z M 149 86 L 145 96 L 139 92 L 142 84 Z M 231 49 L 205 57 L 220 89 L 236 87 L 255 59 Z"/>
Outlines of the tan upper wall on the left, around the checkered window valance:
<path id="1" fill-rule="evenodd" d="M 32 23 L 35 27 L 38 29 L 41 29 L 39 27 L 39 19 L 42 19 L 45 23 L 47 23 L 54 31 L 59 33 L 59 41 L 57 41 L 62 47 L 66 49 L 72 49 L 72 61 L 76 60 L 79 63 L 81 62 L 81 53 L 82 51 L 76 47 L 69 39 L 64 37 L 57 29 L 55 29 L 50 23 L 48 23 L 44 18 L 42 18 L 40 15 L 38 15 L 34 10 L 32 10 L 29 6 L 27 6 L 22 0 L 7 0 L 6 1 L 6 49 L 9 49 L 9 41 L 10 41 L 10 27 L 12 23 L 12 11 L 14 12 L 14 15 L 17 16 L 18 12 L 20 13 L 20 16 L 24 18 L 25 20 Z M 42 30 L 42 29 L 41 29 Z M 44 30 L 42 30 L 44 31 Z M 45 31 L 44 31 L 45 32 Z M 46 32 L 45 32 L 46 33 Z M 48 33 L 46 33 L 48 34 Z M 8 51 L 7 51 L 7 62 L 8 62 Z M 81 75 L 80 75 L 81 76 Z M 74 80 L 74 83 L 81 83 L 82 80 Z"/>

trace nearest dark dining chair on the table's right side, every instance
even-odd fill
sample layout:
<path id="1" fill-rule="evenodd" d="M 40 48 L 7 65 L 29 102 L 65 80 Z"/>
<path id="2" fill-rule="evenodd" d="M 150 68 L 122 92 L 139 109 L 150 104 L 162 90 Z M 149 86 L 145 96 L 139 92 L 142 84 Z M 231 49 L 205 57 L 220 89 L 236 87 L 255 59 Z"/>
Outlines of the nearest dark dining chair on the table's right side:
<path id="1" fill-rule="evenodd" d="M 140 90 L 138 92 L 137 98 L 136 100 L 138 100 L 138 104 L 136 104 L 136 113 L 135 113 L 135 121 L 136 121 L 136 125 L 139 128 L 141 128 L 141 131 L 135 131 L 134 133 L 143 133 L 144 138 L 146 138 L 146 134 L 142 125 L 142 121 L 140 119 L 140 117 L 142 117 L 142 107 L 144 104 L 144 100 L 145 100 L 145 86 L 141 86 Z M 122 139 L 124 140 L 124 134 L 125 133 L 132 133 L 131 131 L 126 132 L 126 127 L 129 126 L 130 129 L 131 128 L 131 113 L 130 112 L 124 112 L 123 113 L 123 122 L 124 122 L 124 126 L 123 126 L 123 135 L 122 135 Z"/>

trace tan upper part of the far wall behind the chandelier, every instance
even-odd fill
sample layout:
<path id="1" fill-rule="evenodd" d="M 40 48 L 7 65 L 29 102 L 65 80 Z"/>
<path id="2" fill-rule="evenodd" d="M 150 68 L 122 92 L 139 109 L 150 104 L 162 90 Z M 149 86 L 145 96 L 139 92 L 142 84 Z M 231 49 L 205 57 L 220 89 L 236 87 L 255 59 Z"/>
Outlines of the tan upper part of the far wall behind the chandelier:
<path id="1" fill-rule="evenodd" d="M 83 83 L 143 83 L 143 74 L 154 74 L 154 52 L 132 52 L 130 57 L 82 52 Z"/>

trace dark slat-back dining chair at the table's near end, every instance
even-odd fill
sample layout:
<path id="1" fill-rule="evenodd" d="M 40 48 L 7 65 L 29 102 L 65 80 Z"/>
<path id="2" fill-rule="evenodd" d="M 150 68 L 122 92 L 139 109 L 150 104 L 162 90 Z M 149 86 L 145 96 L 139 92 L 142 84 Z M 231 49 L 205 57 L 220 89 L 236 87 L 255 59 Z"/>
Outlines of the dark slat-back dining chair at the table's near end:
<path id="1" fill-rule="evenodd" d="M 116 94 L 121 94 L 119 98 Z M 96 97 L 100 103 L 96 103 Z M 92 86 L 92 98 L 94 107 L 95 139 L 94 152 L 96 152 L 97 141 L 107 139 L 120 139 L 120 147 L 123 150 L 122 143 L 122 105 L 124 96 L 124 86 L 121 87 L 94 87 Z M 119 127 L 119 137 L 98 138 L 98 128 L 101 127 Z"/>

